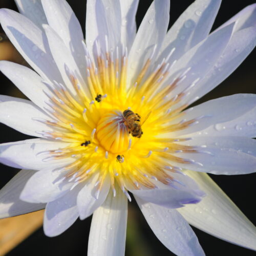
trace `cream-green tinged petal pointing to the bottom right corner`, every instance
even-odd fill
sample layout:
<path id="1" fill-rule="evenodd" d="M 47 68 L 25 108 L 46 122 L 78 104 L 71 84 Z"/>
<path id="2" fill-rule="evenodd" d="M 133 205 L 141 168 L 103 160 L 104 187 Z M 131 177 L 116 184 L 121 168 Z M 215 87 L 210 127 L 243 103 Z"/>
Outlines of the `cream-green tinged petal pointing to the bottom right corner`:
<path id="1" fill-rule="evenodd" d="M 256 250 L 256 228 L 207 174 L 187 172 L 206 191 L 197 205 L 179 209 L 193 226 L 230 243 Z"/>

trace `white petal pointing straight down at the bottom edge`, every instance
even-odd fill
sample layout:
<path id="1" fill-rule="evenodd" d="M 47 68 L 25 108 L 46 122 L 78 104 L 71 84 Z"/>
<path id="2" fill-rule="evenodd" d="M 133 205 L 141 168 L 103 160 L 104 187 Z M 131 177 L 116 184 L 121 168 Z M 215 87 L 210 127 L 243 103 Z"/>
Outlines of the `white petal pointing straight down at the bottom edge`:
<path id="1" fill-rule="evenodd" d="M 110 192 L 105 202 L 94 212 L 88 256 L 124 255 L 127 222 L 127 198 L 118 189 L 116 197 Z"/>

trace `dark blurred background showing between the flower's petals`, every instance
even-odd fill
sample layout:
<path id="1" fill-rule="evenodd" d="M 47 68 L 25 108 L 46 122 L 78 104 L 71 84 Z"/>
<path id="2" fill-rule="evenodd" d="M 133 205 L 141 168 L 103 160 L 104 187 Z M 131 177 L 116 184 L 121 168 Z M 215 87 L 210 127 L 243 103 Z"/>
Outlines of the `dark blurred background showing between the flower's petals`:
<path id="1" fill-rule="evenodd" d="M 51 1 L 51 0 L 50 0 Z M 125 1 L 125 0 L 123 0 Z M 68 1 L 77 15 L 80 24 L 85 28 L 86 1 Z M 152 1 L 141 0 L 137 13 L 137 24 L 140 24 L 147 8 Z M 179 15 L 193 1 L 172 0 L 170 7 L 170 26 L 175 22 Z M 253 4 L 253 0 L 223 1 L 213 29 L 223 24 L 227 19 L 239 12 L 247 5 Z M 13 0 L 0 0 L 0 8 L 10 8 L 17 10 Z M 1 31 L 2 32 L 2 28 Z M 242 65 L 226 79 L 221 85 L 209 94 L 200 99 L 198 103 L 209 99 L 231 95 L 236 93 L 256 93 L 255 87 L 255 51 L 242 63 Z M 24 97 L 14 85 L 3 76 L 1 76 L 1 94 Z M 15 130 L 1 124 L 0 136 L 2 142 L 23 140 L 29 138 Z M 8 180 L 13 177 L 18 170 L 1 165 L 2 187 Z M 225 193 L 233 200 L 234 203 L 244 212 L 244 214 L 255 224 L 255 174 L 237 175 L 237 176 L 214 176 L 211 175 Z M 42 228 L 35 231 L 28 239 L 10 251 L 8 256 L 16 255 L 86 255 L 88 237 L 90 230 L 91 217 L 84 221 L 76 221 L 65 233 L 56 238 L 48 238 L 44 235 Z M 210 236 L 197 228 L 194 228 L 198 239 L 206 255 L 255 255 L 255 252 L 224 242 L 220 239 Z M 108 253 L 106 253 L 108 255 Z M 144 220 L 135 200 L 129 204 L 129 217 L 127 224 L 126 239 L 126 256 L 155 256 L 155 255 L 174 255 L 166 249 L 155 237 L 154 233 L 148 227 Z"/>

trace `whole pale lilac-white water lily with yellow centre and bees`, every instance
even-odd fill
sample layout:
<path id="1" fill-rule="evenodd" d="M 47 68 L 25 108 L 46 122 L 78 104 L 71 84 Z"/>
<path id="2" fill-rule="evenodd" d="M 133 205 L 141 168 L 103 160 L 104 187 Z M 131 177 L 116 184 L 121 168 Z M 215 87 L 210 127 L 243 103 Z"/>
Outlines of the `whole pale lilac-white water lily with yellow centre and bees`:
<path id="1" fill-rule="evenodd" d="M 136 33 L 138 0 L 88 0 L 84 40 L 65 0 L 16 3 L 1 25 L 34 71 L 0 69 L 31 101 L 2 95 L 0 121 L 38 138 L 0 145 L 22 168 L 1 217 L 46 208 L 54 237 L 93 214 L 88 255 L 120 256 L 133 194 L 177 255 L 204 255 L 188 223 L 256 249 L 255 227 L 206 174 L 255 172 L 256 95 L 189 108 L 254 48 L 256 6 L 209 34 L 220 0 L 195 1 L 168 31 L 169 0 L 155 0 Z"/>

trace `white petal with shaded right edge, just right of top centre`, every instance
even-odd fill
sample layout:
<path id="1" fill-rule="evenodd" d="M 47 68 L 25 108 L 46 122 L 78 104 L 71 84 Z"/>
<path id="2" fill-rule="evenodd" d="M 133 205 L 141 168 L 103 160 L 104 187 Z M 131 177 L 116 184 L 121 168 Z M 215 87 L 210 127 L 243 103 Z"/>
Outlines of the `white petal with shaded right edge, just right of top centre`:
<path id="1" fill-rule="evenodd" d="M 169 23 L 169 5 L 168 0 L 155 0 L 148 8 L 129 53 L 127 84 L 136 82 L 146 60 L 154 59 L 161 48 Z"/>

